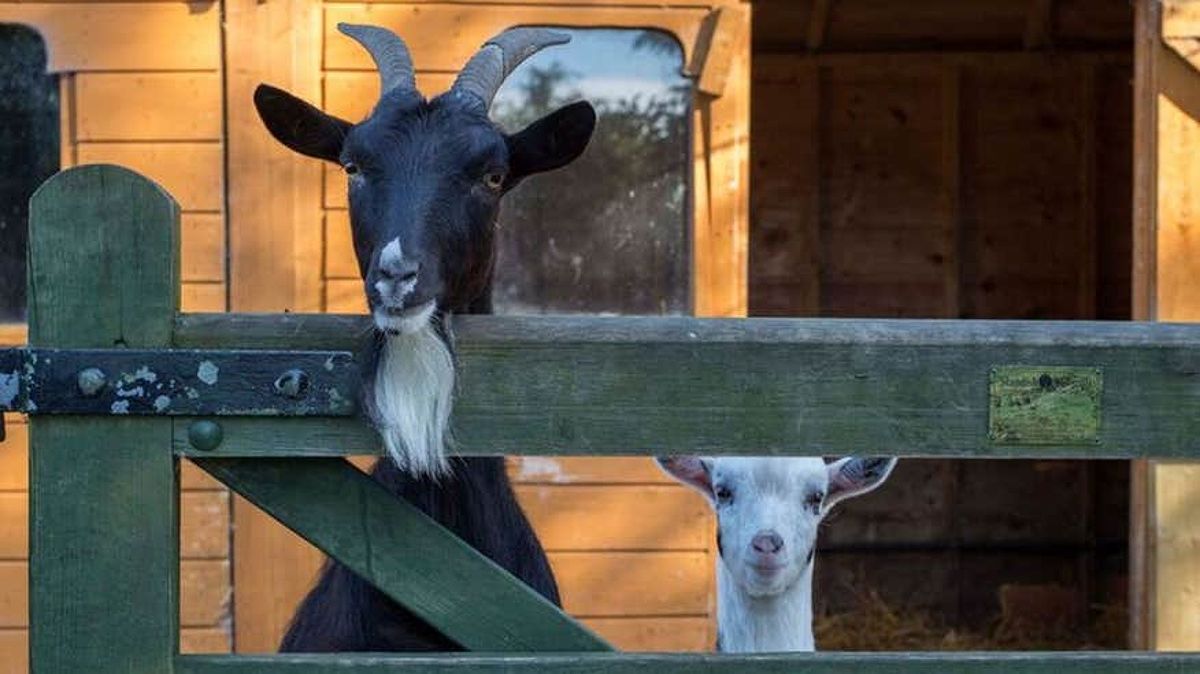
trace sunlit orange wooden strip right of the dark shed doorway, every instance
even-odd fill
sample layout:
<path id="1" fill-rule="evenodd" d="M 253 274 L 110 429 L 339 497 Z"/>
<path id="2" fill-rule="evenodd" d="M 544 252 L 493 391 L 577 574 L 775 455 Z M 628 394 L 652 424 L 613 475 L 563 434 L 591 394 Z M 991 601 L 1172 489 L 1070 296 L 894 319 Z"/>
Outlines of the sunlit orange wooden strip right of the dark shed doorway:
<path id="1" fill-rule="evenodd" d="M 1140 0 L 1136 18 L 1134 318 L 1200 321 L 1192 194 L 1200 177 L 1200 2 Z M 1134 645 L 1195 650 L 1200 463 L 1139 463 L 1132 487 Z"/>

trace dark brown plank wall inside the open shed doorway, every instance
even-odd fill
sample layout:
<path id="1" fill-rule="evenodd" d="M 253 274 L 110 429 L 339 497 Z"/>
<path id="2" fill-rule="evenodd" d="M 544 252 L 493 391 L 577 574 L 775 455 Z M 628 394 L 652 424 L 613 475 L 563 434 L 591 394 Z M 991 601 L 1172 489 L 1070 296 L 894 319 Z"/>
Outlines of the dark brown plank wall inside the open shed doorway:
<path id="1" fill-rule="evenodd" d="M 1130 32 L 1110 0 L 757 1 L 751 314 L 1128 319 Z M 1123 604 L 1127 487 L 1120 462 L 902 462 L 823 535 L 818 610 Z"/>

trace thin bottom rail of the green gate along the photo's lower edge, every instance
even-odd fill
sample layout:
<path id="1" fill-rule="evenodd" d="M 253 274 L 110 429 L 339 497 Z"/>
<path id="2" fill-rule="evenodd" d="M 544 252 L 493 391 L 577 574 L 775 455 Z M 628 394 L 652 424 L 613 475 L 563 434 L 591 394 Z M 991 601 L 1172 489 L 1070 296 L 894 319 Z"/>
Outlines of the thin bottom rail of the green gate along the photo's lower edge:
<path id="1" fill-rule="evenodd" d="M 1139 674 L 1200 672 L 1200 654 L 1124 652 L 911 652 L 911 654 L 793 654 L 793 655 L 553 655 L 521 656 L 380 656 L 278 655 L 180 656 L 180 674 L 259 674 L 280 672 L 553 672 L 556 674 L 706 673 L 755 674 Z"/>

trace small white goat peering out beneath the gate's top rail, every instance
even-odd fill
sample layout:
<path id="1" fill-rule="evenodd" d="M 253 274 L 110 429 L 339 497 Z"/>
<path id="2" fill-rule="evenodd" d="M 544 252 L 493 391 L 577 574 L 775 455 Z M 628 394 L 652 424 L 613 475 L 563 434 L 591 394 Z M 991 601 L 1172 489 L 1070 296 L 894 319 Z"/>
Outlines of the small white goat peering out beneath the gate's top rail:
<path id="1" fill-rule="evenodd" d="M 894 458 L 660 457 L 716 511 L 716 650 L 811 651 L 817 526 L 892 474 Z"/>

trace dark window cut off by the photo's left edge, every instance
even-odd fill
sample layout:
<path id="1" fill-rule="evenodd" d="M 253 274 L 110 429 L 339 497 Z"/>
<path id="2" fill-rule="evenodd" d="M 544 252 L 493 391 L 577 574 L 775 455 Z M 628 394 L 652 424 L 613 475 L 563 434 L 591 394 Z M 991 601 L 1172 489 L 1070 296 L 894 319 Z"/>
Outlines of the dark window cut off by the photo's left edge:
<path id="1" fill-rule="evenodd" d="M 34 30 L 0 24 L 0 323 L 25 319 L 29 197 L 59 168 L 59 89 Z"/>

